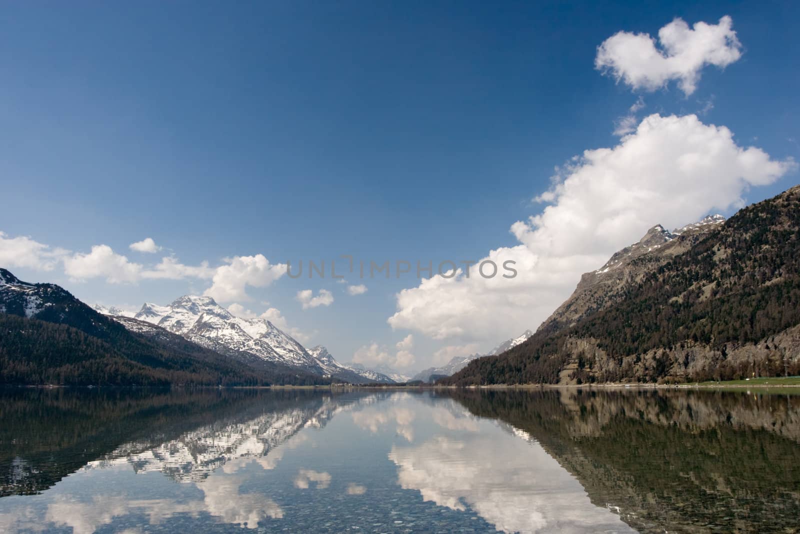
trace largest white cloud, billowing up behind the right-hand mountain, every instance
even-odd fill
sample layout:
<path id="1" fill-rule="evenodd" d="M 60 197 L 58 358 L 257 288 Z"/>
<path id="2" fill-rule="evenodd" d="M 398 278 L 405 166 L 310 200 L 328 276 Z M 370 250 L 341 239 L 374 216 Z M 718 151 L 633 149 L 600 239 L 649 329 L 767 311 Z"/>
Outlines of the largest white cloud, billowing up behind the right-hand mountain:
<path id="1" fill-rule="evenodd" d="M 571 160 L 554 187 L 537 197 L 549 204 L 544 211 L 512 225 L 519 244 L 486 256 L 498 265 L 516 262 L 518 275 L 486 279 L 472 266 L 450 279 L 422 280 L 396 295 L 389 323 L 434 339 L 486 343 L 535 328 L 583 272 L 602 266 L 648 228 L 680 227 L 740 207 L 748 187 L 772 183 L 794 167 L 790 159 L 738 146 L 726 127 L 695 115 L 650 115 L 617 146 Z"/>

